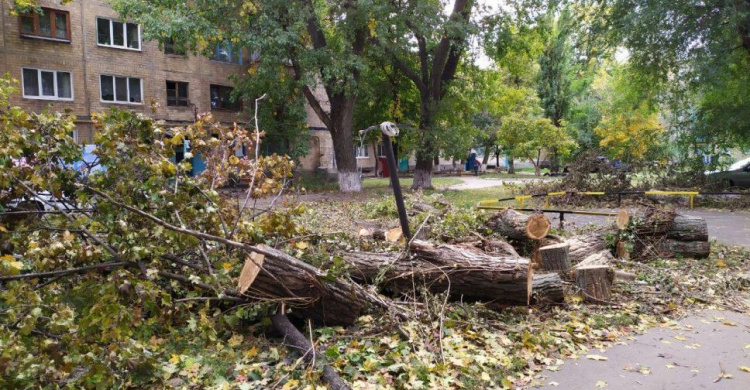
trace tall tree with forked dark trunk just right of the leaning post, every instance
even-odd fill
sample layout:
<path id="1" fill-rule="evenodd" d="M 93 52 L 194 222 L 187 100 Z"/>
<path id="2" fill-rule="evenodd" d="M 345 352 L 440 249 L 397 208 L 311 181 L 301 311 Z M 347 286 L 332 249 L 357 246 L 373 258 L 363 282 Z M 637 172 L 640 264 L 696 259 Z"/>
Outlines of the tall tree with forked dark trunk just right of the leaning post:
<path id="1" fill-rule="evenodd" d="M 446 16 L 444 4 L 438 1 L 388 2 L 387 22 L 378 24 L 373 36 L 385 59 L 419 90 L 413 189 L 432 188 L 433 161 L 439 153 L 441 136 L 435 120 L 466 49 L 474 3 L 456 0 Z"/>

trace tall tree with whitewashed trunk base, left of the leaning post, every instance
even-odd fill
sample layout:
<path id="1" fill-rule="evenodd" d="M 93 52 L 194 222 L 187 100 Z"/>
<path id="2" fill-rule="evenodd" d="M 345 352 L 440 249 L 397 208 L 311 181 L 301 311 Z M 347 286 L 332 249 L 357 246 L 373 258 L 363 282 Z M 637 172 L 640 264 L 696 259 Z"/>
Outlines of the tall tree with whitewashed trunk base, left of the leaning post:
<path id="1" fill-rule="evenodd" d="M 333 138 L 339 188 L 360 191 L 352 126 L 372 4 L 340 0 L 112 0 L 142 23 L 144 36 L 177 40 L 198 53 L 229 40 L 262 53 L 260 68 L 282 68 Z M 259 70 L 258 75 L 273 72 Z M 275 72 L 278 74 L 278 71 Z M 257 76 L 256 76 L 257 77 Z M 322 87 L 322 93 L 317 87 Z"/>

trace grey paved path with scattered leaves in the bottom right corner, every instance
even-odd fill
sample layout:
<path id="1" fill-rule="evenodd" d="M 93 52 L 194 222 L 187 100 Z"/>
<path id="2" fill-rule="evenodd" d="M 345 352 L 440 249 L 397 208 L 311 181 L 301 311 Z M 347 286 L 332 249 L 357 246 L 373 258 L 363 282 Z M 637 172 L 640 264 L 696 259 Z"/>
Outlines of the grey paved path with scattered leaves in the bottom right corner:
<path id="1" fill-rule="evenodd" d="M 544 389 L 750 389 L 750 317 L 705 311 L 545 371 Z M 722 369 L 723 374 L 722 375 Z M 750 368 L 748 368 L 750 369 Z"/>

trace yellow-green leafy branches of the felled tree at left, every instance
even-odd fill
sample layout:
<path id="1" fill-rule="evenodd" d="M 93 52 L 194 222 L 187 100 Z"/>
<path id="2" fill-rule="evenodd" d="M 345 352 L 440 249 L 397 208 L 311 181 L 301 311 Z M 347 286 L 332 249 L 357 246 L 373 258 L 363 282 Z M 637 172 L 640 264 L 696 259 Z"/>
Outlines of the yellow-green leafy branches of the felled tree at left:
<path id="1" fill-rule="evenodd" d="M 0 103 L 14 89 L 4 79 Z M 142 388 L 183 371 L 191 373 L 186 380 L 205 385 L 240 375 L 241 369 L 224 359 L 251 364 L 257 358 L 243 358 L 237 345 L 227 349 L 227 339 L 231 345 L 233 326 L 268 309 L 222 308 L 221 297 L 233 289 L 245 254 L 206 245 L 132 210 L 243 242 L 289 237 L 300 232 L 292 216 L 301 210 L 242 218 L 216 188 L 230 174 L 249 175 L 256 184 L 251 197 L 276 194 L 293 164 L 280 156 L 234 157 L 237 145 L 253 148 L 256 134 L 223 127 L 210 116 L 167 129 L 141 114 L 113 109 L 93 117 L 94 154 L 106 169 L 81 172 L 72 166 L 82 155 L 70 136 L 74 120 L 0 105 L 3 209 L 13 200 L 46 193 L 53 205 L 73 210 L 0 220 L 0 277 L 35 276 L 0 282 L 0 387 Z M 186 175 L 187 160 L 172 162 L 184 139 L 207 161 L 200 177 Z M 80 267 L 94 269 L 59 278 L 37 275 Z M 219 303 L 209 304 L 204 294 Z M 187 357 L 195 351 L 201 356 Z M 183 362 L 173 355 L 186 357 Z"/>

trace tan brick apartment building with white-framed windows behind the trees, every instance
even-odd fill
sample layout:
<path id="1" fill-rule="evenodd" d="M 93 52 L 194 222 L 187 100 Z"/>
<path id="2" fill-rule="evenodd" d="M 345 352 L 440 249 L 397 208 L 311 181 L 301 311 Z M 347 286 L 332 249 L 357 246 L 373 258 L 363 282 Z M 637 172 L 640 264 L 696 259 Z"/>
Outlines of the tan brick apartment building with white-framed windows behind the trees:
<path id="1" fill-rule="evenodd" d="M 209 58 L 175 53 L 170 45 L 142 39 L 141 26 L 122 20 L 105 1 L 40 0 L 43 14 L 13 16 L 13 0 L 0 0 L 0 74 L 21 82 L 11 104 L 39 112 L 70 109 L 75 137 L 93 139 L 91 114 L 110 107 L 143 112 L 167 123 L 212 112 L 222 122 L 250 118 L 229 99 L 230 76 L 247 74 L 254 58 L 230 43 Z M 158 103 L 152 112 L 151 102 Z M 310 153 L 303 169 L 333 170 L 333 145 L 323 124 L 306 107 Z"/>

